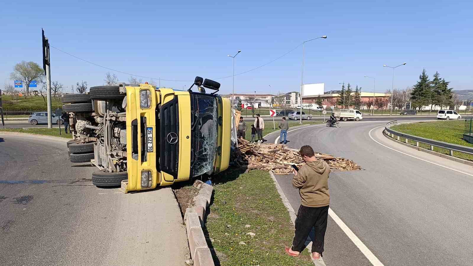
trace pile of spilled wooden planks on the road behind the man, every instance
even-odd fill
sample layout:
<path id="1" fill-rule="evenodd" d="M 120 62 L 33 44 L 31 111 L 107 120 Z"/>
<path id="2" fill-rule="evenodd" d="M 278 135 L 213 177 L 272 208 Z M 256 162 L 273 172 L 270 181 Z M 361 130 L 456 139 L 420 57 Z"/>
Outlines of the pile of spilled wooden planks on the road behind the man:
<path id="1" fill-rule="evenodd" d="M 361 167 L 341 157 L 315 152 L 315 157 L 324 160 L 333 171 L 360 170 Z M 236 166 L 247 169 L 271 171 L 275 175 L 292 173 L 291 165 L 300 167 L 304 161 L 297 151 L 289 150 L 282 144 L 255 144 L 244 139 L 238 139 L 238 150 L 231 159 Z"/>

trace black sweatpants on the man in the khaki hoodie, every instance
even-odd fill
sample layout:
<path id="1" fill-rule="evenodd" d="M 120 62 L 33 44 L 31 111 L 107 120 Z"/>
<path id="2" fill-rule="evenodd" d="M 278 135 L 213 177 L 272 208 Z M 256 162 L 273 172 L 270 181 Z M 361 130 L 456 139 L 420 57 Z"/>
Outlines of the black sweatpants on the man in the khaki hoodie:
<path id="1" fill-rule="evenodd" d="M 327 230 L 328 206 L 306 207 L 300 205 L 296 218 L 296 232 L 292 240 L 292 250 L 302 252 L 310 231 L 314 228 L 315 238 L 312 239 L 312 252 L 322 256 L 324 252 L 325 230 Z"/>

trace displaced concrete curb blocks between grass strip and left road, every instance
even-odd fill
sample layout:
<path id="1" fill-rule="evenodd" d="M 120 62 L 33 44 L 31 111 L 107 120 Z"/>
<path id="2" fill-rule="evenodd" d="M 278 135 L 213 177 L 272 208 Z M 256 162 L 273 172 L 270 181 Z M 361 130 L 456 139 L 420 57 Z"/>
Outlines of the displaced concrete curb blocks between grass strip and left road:
<path id="1" fill-rule="evenodd" d="M 212 254 L 202 230 L 205 214 L 212 198 L 213 187 L 201 180 L 195 180 L 193 186 L 199 189 L 199 192 L 193 198 L 194 206 L 185 209 L 184 213 L 191 258 L 194 266 L 214 266 Z"/>

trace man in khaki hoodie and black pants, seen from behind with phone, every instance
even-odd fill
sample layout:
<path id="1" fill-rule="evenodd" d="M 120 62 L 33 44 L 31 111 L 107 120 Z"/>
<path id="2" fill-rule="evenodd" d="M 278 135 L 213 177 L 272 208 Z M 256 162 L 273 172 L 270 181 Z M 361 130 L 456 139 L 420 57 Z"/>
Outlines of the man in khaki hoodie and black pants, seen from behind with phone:
<path id="1" fill-rule="evenodd" d="M 292 247 L 285 251 L 289 256 L 297 257 L 304 250 L 306 239 L 315 229 L 312 241 L 312 258 L 319 259 L 324 252 L 325 230 L 330 204 L 328 176 L 330 167 L 324 160 L 315 158 L 314 150 L 309 145 L 300 148 L 300 156 L 306 162 L 298 171 L 294 170 L 292 186 L 299 189 L 301 206 L 296 218 L 296 232 Z"/>

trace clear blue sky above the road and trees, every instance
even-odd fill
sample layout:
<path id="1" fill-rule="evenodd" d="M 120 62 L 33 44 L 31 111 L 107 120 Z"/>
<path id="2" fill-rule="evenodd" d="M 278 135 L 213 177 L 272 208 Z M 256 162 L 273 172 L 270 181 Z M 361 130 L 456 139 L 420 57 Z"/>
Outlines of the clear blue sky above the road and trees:
<path id="1" fill-rule="evenodd" d="M 79 2 L 79 1 L 78 1 Z M 363 91 L 416 83 L 422 68 L 439 71 L 454 89 L 473 89 L 471 1 L 8 1 L 0 17 L 0 80 L 22 60 L 42 64 L 41 27 L 50 44 L 119 71 L 169 80 L 219 78 L 270 62 L 304 40 L 304 83 L 339 82 Z M 145 2 L 145 1 L 143 1 Z M 45 6 L 43 6 L 45 5 Z M 236 92 L 298 90 L 302 46 L 279 60 L 235 77 Z M 51 48 L 52 80 L 65 86 L 102 85 L 108 70 Z M 111 71 L 112 72 L 112 71 Z M 121 81 L 129 75 L 116 73 Z M 146 80 L 146 79 L 143 79 Z M 217 80 L 221 93 L 232 78 Z M 190 82 L 161 81 L 181 88 Z M 0 86 L 3 89 L 3 86 Z M 187 87 L 188 88 L 188 87 Z"/>

